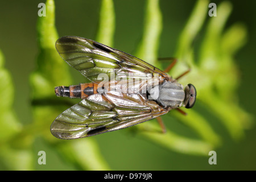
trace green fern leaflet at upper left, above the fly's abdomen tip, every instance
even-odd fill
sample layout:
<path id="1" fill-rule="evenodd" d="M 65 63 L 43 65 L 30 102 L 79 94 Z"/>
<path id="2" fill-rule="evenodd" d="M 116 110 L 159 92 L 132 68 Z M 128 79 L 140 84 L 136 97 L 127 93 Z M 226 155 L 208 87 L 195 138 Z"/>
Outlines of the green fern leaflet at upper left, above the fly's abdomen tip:
<path id="1" fill-rule="evenodd" d="M 39 16 L 38 31 L 38 69 L 31 75 L 33 98 L 51 97 L 55 86 L 71 83 L 68 65 L 61 59 L 55 49 L 59 38 L 55 28 L 55 5 L 46 2 L 46 16 Z"/>

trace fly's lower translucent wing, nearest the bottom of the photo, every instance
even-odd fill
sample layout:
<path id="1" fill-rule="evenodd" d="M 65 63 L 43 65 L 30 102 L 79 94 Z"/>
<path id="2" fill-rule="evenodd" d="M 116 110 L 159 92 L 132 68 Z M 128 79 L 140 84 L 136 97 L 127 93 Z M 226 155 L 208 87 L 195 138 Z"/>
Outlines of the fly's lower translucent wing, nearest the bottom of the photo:
<path id="1" fill-rule="evenodd" d="M 146 103 L 140 94 L 94 94 L 61 113 L 53 121 L 51 133 L 61 139 L 90 137 L 137 125 L 167 112 L 154 101 Z"/>

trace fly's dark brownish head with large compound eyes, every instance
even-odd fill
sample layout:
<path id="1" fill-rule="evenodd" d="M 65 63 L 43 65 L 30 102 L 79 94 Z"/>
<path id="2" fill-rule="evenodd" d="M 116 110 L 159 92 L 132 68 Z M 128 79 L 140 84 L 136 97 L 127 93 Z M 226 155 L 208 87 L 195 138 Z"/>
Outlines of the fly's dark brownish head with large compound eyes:
<path id="1" fill-rule="evenodd" d="M 184 106 L 186 108 L 192 108 L 196 102 L 196 88 L 192 84 L 188 84 L 185 87 L 185 99 L 184 99 Z"/>

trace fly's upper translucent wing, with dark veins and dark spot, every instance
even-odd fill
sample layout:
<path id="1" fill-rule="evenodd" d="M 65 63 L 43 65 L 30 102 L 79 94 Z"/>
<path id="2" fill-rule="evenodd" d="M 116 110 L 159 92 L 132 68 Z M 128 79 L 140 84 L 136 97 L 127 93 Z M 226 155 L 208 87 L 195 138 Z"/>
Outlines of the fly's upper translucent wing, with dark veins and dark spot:
<path id="1" fill-rule="evenodd" d="M 154 73 L 168 77 L 160 69 L 137 57 L 93 40 L 64 36 L 57 40 L 56 49 L 69 65 L 96 83 L 102 81 L 100 73 L 106 73 L 108 81 L 116 76 L 143 79 L 147 74 Z"/>

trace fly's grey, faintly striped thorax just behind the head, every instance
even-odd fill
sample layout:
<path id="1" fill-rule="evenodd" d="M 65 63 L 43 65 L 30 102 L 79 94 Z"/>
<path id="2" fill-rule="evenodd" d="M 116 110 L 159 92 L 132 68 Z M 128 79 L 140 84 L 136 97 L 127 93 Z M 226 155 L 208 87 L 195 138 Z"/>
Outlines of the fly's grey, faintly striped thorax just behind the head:
<path id="1" fill-rule="evenodd" d="M 164 81 L 159 85 L 157 102 L 163 107 L 180 107 L 183 105 L 185 92 L 183 86 L 177 82 Z"/>

